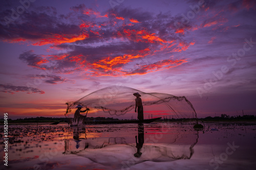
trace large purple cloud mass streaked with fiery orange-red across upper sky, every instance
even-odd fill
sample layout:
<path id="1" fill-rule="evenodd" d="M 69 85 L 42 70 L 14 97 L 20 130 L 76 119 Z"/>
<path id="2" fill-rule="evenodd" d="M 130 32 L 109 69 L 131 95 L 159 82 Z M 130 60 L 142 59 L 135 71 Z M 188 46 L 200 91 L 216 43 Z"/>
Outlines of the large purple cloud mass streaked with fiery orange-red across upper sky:
<path id="1" fill-rule="evenodd" d="M 39 46 L 51 44 L 53 51 L 58 49 L 67 51 L 48 56 L 36 55 L 33 51 L 20 54 L 20 60 L 38 69 L 50 69 L 49 64 L 54 61 L 56 63 L 54 70 L 64 74 L 75 71 L 83 71 L 87 76 L 146 74 L 160 70 L 152 69 L 155 63 L 162 63 L 166 57 L 186 51 L 194 44 L 175 35 L 184 31 L 173 29 L 175 18 L 170 14 L 156 16 L 136 9 L 120 9 L 116 12 L 109 10 L 100 13 L 85 5 L 72 7 L 72 11 L 67 15 L 58 15 L 55 8 L 37 9 L 37 13 L 33 10 L 27 11 L 22 21 L 15 23 L 15 28 L 18 29 L 14 30 L 14 25 L 11 29 L 4 27 L 0 37 L 6 42 L 28 42 Z M 40 17 L 45 20 L 43 25 L 36 24 Z M 167 19 L 168 17 L 170 19 Z M 156 28 L 155 25 L 161 20 L 165 21 Z M 35 27 L 29 27 L 31 23 L 35 23 Z M 29 30 L 25 29 L 28 27 Z M 156 61 L 155 56 L 160 55 L 161 57 Z M 145 57 L 148 65 L 136 68 L 136 61 Z M 183 59 L 173 61 L 183 63 Z M 156 68 L 167 69 L 179 65 L 166 63 L 164 67 Z M 61 80 L 56 79 L 56 81 Z M 55 84 L 56 81 L 49 80 L 47 83 Z"/>

